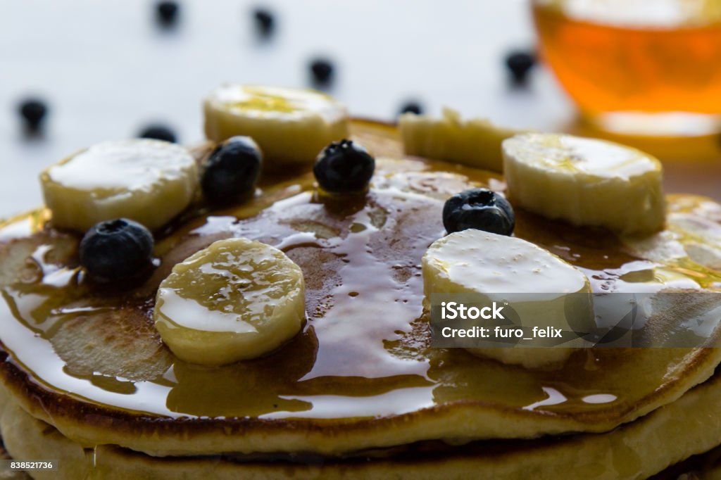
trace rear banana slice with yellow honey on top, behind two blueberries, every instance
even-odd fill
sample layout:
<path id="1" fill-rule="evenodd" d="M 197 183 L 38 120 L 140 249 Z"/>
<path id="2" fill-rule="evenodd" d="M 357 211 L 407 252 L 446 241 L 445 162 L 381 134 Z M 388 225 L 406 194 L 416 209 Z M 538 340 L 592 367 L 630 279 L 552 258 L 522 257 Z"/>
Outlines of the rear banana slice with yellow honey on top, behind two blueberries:
<path id="1" fill-rule="evenodd" d="M 205 135 L 252 137 L 270 164 L 313 163 L 332 141 L 348 137 L 348 112 L 321 92 L 224 84 L 205 98 Z"/>

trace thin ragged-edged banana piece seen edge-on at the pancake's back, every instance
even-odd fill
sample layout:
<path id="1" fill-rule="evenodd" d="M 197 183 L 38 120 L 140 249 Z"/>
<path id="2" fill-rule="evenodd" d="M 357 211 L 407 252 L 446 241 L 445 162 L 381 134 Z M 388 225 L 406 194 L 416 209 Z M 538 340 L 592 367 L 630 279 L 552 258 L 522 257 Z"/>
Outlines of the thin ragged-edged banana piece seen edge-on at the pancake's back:
<path id="1" fill-rule="evenodd" d="M 443 117 L 406 113 L 398 122 L 407 155 L 454 161 L 479 169 L 503 172 L 500 143 L 522 130 L 500 128 L 488 120 L 461 120 L 450 108 Z"/>

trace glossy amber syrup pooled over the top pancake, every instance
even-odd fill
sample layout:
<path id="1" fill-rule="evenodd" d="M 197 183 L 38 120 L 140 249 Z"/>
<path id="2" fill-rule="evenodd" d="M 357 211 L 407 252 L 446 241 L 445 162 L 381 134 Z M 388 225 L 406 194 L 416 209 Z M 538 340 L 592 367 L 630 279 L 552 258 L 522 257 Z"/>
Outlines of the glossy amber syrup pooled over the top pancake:
<path id="1" fill-rule="evenodd" d="M 578 355 L 561 370 L 528 372 L 462 350 L 431 349 L 420 318 L 420 257 L 443 234 L 441 199 L 459 186 L 496 179 L 459 167 L 450 174 L 441 163 L 405 162 L 380 161 L 376 185 L 365 198 L 338 201 L 318 197 L 308 183 L 290 185 L 275 190 L 278 197 L 270 208 L 246 205 L 235 215 L 206 215 L 160 247 L 167 263 L 174 249 L 189 242 L 248 236 L 278 246 L 301 264 L 309 284 L 308 323 L 296 339 L 267 357 L 214 369 L 174 360 L 164 375 L 132 381 L 134 389 L 126 378 L 112 377 L 120 382 L 113 383 L 97 378 L 102 372 L 68 372 L 50 342 L 63 322 L 103 314 L 118 298 L 147 313 L 154 291 L 140 294 L 145 291 L 140 288 L 135 294 L 110 295 L 105 302 L 98 301 L 104 298 L 100 293 L 90 295 L 97 303 L 84 304 L 92 286 L 76 275 L 76 265 L 48 261 L 52 242 L 35 250 L 40 270 L 34 281 L 4 288 L 0 339 L 15 362 L 52 390 L 167 417 L 377 417 L 468 399 L 533 407 L 533 412 L 588 412 L 605 404 L 583 399 L 605 396 L 614 399 L 611 403 L 634 404 L 634 392 L 649 393 L 663 380 L 667 371 L 658 368 L 647 372 L 646 384 L 628 388 L 623 381 L 628 359 L 606 352 L 595 354 L 590 363 Z M 0 238 L 18 231 L 23 221 L 7 223 Z M 598 241 L 598 235 L 523 212 L 518 227 L 518 236 L 582 268 L 597 290 L 664 285 L 658 275 L 641 275 L 643 282 L 622 280 L 630 272 L 660 267 L 623 254 L 608 235 Z M 587 239 L 596 240 L 588 244 Z M 53 275 L 62 281 L 48 281 Z M 679 275 L 685 283 L 696 281 Z M 639 355 L 641 361 L 646 354 L 626 355 Z M 669 363 L 673 355 L 668 353 Z M 549 391 L 565 401 L 549 403 Z"/>

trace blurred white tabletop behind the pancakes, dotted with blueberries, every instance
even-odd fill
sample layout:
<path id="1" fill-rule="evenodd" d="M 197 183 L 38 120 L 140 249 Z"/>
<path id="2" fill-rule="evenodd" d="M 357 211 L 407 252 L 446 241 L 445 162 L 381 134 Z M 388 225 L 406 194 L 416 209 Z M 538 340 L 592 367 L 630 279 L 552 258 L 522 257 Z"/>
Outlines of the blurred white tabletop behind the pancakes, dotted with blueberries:
<path id="1" fill-rule="evenodd" d="M 596 134 L 579 125 L 547 68 L 523 81 L 508 68 L 509 55 L 536 52 L 527 0 L 165 3 L 175 7 L 0 0 L 0 218 L 40 205 L 40 170 L 79 148 L 153 125 L 180 143 L 200 141 L 201 100 L 223 81 L 316 87 L 379 120 L 448 106 L 504 126 Z M 669 159 L 689 151 L 640 143 Z M 704 143 L 704 158 L 716 144 Z M 671 190 L 719 190 L 707 163 L 667 170 L 690 179 Z"/>

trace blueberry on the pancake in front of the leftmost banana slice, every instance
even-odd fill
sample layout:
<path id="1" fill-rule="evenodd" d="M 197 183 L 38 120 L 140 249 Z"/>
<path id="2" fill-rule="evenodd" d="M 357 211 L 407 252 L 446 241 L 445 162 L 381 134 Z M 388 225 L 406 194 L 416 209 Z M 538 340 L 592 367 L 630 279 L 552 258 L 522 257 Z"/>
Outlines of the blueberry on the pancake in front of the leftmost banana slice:
<path id="1" fill-rule="evenodd" d="M 149 272 L 152 253 L 153 235 L 127 218 L 96 223 L 80 241 L 80 264 L 91 277 L 105 282 Z"/>

